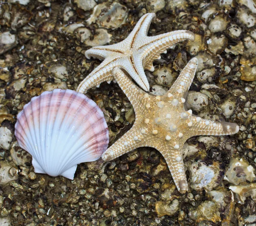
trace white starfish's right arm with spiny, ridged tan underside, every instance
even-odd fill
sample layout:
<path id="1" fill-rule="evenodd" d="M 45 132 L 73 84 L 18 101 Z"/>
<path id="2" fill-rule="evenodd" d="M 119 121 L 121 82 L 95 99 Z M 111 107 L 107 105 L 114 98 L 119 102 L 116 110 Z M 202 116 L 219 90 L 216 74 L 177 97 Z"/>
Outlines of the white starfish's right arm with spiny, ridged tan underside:
<path id="1" fill-rule="evenodd" d="M 171 31 L 165 34 L 159 34 L 152 37 L 143 37 L 141 41 L 137 42 L 139 46 L 137 49 L 143 49 L 143 58 L 145 59 L 145 69 L 151 69 L 152 63 L 155 59 L 160 57 L 160 54 L 165 52 L 166 49 L 171 48 L 178 42 L 184 40 L 195 40 L 195 35 L 191 31 L 179 30 Z M 141 44 L 143 43 L 143 44 Z M 152 70 L 152 69 L 151 69 Z"/>

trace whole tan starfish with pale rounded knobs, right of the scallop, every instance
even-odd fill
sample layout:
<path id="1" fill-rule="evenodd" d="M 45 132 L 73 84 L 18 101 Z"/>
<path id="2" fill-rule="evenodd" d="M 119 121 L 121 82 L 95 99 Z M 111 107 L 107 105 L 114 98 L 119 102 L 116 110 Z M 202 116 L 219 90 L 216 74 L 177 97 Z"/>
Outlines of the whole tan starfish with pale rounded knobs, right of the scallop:
<path id="1" fill-rule="evenodd" d="M 105 161 L 142 146 L 157 149 L 165 158 L 178 191 L 188 190 L 183 165 L 183 145 L 197 135 L 229 135 L 239 131 L 236 123 L 204 120 L 186 111 L 184 95 L 195 76 L 198 60 L 185 66 L 173 86 L 163 96 L 154 96 L 134 85 L 119 68 L 113 76 L 134 106 L 136 114 L 132 128 L 102 154 Z"/>

